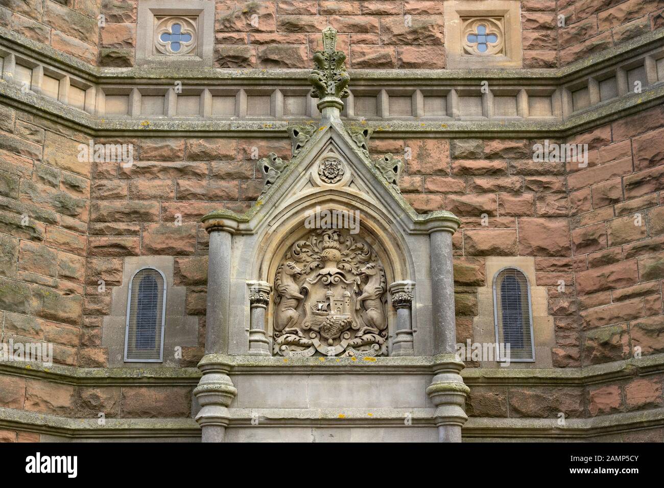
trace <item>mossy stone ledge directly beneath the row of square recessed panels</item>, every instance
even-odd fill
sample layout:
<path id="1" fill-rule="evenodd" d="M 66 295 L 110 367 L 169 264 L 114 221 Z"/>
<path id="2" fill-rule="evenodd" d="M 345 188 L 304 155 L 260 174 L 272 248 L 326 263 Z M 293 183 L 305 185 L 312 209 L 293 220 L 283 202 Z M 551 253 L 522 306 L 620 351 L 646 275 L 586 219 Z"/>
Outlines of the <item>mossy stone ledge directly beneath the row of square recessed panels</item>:
<path id="1" fill-rule="evenodd" d="M 13 108 L 46 118 L 51 122 L 82 131 L 92 137 L 287 137 L 289 122 L 257 120 L 108 120 L 64 106 L 33 93 L 22 93 L 17 85 L 0 81 L 0 100 Z M 603 102 L 585 112 L 560 121 L 458 121 L 380 120 L 367 121 L 373 137 L 491 137 L 560 138 L 630 116 L 664 102 L 664 82 L 646 88 L 641 94 L 628 94 Z M 295 120 L 293 123 L 297 122 Z M 357 125 L 345 120 L 345 125 Z"/>

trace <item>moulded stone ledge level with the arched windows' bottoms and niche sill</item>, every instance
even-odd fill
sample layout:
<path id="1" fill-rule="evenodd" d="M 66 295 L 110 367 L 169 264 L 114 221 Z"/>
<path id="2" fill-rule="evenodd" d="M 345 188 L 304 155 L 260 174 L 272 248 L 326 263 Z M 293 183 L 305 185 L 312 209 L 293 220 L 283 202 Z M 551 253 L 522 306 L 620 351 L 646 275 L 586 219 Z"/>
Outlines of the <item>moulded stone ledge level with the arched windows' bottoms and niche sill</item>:
<path id="1" fill-rule="evenodd" d="M 434 357 L 378 357 L 367 359 L 326 357 L 224 356 L 231 375 L 240 374 L 433 374 Z M 584 368 L 465 368 L 470 386 L 586 386 L 632 376 L 664 372 L 664 354 Z M 76 368 L 39 363 L 0 362 L 0 373 L 37 378 L 75 386 L 172 385 L 196 386 L 197 368 Z"/>

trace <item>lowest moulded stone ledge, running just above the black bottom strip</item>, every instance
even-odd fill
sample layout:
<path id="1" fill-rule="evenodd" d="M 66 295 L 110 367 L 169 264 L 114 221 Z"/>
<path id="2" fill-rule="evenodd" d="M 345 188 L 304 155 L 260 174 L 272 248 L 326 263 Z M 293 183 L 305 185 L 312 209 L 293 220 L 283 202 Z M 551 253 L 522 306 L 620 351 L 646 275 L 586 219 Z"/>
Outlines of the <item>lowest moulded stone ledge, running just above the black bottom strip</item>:
<path id="1" fill-rule="evenodd" d="M 325 426 L 353 428 L 403 426 L 406 415 L 413 427 L 434 427 L 432 408 L 348 409 L 250 409 L 230 408 L 229 428 L 259 426 Z M 555 418 L 477 418 L 463 426 L 463 438 L 586 439 L 664 426 L 664 408 L 627 412 L 594 418 L 568 418 L 560 426 Z M 25 430 L 65 438 L 198 438 L 200 428 L 193 418 L 107 418 L 103 426 L 96 418 L 63 418 L 47 414 L 0 408 L 0 428 Z"/>

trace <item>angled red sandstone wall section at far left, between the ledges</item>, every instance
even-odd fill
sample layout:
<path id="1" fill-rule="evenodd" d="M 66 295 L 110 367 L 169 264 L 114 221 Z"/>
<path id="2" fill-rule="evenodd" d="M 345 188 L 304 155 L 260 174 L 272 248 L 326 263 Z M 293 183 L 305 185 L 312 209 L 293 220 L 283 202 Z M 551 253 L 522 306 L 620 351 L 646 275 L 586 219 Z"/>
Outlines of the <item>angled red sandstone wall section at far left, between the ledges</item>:
<path id="1" fill-rule="evenodd" d="M 0 108 L 0 314 L 3 341 L 53 344 L 54 362 L 91 364 L 82 330 L 90 164 L 81 133 Z M 92 361 L 98 364 L 98 361 Z"/>

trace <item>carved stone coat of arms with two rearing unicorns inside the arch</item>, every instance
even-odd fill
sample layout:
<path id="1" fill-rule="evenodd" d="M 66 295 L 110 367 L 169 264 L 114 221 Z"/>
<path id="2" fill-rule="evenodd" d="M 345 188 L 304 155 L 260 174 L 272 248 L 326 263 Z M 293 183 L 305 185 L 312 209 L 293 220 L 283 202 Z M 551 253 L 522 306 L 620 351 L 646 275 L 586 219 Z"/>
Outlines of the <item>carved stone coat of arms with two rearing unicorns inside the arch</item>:
<path id="1" fill-rule="evenodd" d="M 274 353 L 386 354 L 385 272 L 366 242 L 344 230 L 309 234 L 284 256 L 274 289 Z"/>

